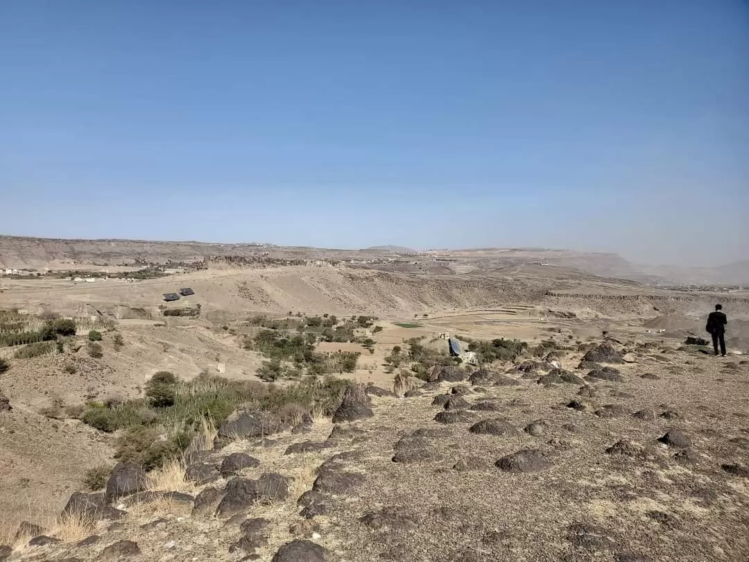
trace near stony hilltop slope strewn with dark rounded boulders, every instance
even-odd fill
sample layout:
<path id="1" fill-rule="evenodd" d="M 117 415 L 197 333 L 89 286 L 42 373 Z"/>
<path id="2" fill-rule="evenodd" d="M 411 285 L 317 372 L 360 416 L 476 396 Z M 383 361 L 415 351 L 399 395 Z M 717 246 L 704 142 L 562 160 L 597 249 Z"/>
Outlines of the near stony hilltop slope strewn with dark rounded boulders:
<path id="1" fill-rule="evenodd" d="M 240 413 L 186 470 L 73 495 L 61 528 L 91 536 L 28 522 L 0 561 L 749 560 L 748 361 L 604 345 L 432 378 L 294 428 Z"/>

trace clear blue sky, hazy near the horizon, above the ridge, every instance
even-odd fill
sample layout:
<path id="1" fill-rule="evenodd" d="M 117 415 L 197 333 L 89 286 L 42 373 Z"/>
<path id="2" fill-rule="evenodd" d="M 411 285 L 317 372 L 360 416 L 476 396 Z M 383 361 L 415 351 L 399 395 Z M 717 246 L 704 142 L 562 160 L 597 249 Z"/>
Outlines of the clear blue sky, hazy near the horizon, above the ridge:
<path id="1" fill-rule="evenodd" d="M 749 259 L 749 2 L 2 0 L 0 233 Z"/>

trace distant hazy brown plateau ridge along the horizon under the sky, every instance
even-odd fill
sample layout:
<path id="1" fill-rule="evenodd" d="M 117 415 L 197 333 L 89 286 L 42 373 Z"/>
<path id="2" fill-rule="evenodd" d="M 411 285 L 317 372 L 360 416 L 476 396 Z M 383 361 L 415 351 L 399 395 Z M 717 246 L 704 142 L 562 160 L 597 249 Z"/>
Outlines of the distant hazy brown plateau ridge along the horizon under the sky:
<path id="1" fill-rule="evenodd" d="M 548 265 L 572 268 L 599 277 L 649 284 L 694 283 L 749 286 L 749 260 L 718 268 L 681 268 L 638 265 L 616 253 L 589 253 L 544 248 L 478 248 L 417 252 L 401 246 L 374 246 L 363 250 L 283 247 L 273 244 L 217 244 L 196 241 L 67 240 L 0 235 L 0 267 L 42 269 L 61 262 L 120 265 L 133 262 L 190 262 L 207 256 L 269 256 L 279 259 L 351 259 L 408 256 L 416 262 L 441 260 L 455 271 L 491 271 L 513 265 Z M 458 268 L 459 266 L 459 268 Z"/>

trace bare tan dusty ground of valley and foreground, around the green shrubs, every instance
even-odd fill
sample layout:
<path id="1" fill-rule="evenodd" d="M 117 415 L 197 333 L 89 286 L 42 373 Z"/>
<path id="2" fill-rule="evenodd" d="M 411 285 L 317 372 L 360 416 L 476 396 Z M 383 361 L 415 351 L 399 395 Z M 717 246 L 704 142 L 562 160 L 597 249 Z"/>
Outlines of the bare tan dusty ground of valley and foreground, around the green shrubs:
<path id="1" fill-rule="evenodd" d="M 37 250 L 40 263 L 50 252 Z M 187 259 L 184 252 L 180 259 Z M 227 523 L 193 511 L 190 502 L 160 499 L 125 507 L 127 515 L 118 522 L 98 522 L 90 533 L 100 535 L 96 543 L 15 545 L 9 560 L 94 560 L 125 539 L 138 543 L 139 554 L 128 557 L 136 561 L 234 561 L 247 555 L 270 560 L 294 539 L 320 545 L 324 558 L 307 553 L 307 558 L 276 562 L 749 557 L 749 479 L 743 472 L 749 465 L 749 356 L 716 358 L 693 348 L 678 350 L 686 336 L 704 336 L 704 318 L 721 301 L 730 318 L 731 350 L 749 351 L 748 295 L 671 292 L 532 262 L 489 271 L 466 268 L 462 274 L 455 268 L 443 273 L 391 270 L 389 265 L 267 265 L 216 267 L 136 282 L 0 278 L 0 309 L 77 318 L 82 340 L 89 327 L 104 331 L 99 358 L 66 351 L 15 359 L 8 348 L 0 348 L 0 357 L 10 362 L 0 374 L 0 393 L 13 407 L 0 411 L 4 528 L 24 520 L 54 527 L 70 494 L 83 489 L 85 469 L 111 459 L 112 435 L 78 420 L 51 419 L 43 415 L 44 408 L 136 397 L 160 370 L 185 379 L 220 372 L 257 380 L 264 357 L 241 346 L 245 321 L 257 313 L 279 318 L 288 312 L 377 315 L 382 330 L 370 334 L 372 353 L 358 343 L 317 347 L 360 351 L 356 371 L 342 376 L 387 390 L 395 375 L 384 359 L 392 347 L 423 336 L 425 344 L 443 349 L 446 342 L 437 336 L 445 332 L 532 344 L 552 338 L 571 348 L 562 354 L 562 368 L 583 378 L 579 384 L 539 384 L 548 366 L 524 374 L 505 362 L 484 366 L 497 375 L 507 373 L 499 384 L 494 379 L 472 384 L 467 377 L 474 367 L 466 369 L 466 380 L 427 384 L 416 396 L 373 396 L 374 415 L 363 420 L 334 426 L 316 418 L 305 433 L 285 431 L 262 445 L 238 439 L 207 453 L 208 462 L 237 452 L 259 459 L 260 465 L 243 477 L 279 473 L 289 478 L 287 498 L 241 512 L 268 521 L 255 533 L 261 538 L 252 548 L 229 552 L 241 536 L 236 518 Z M 176 304 L 163 302 L 163 293 L 182 287 L 193 288 L 195 295 Z M 163 316 L 163 307 L 186 304 L 201 305 L 200 315 Z M 115 347 L 112 330 L 121 334 L 123 346 Z M 620 381 L 586 379 L 589 369 L 577 369 L 583 354 L 578 347 L 607 338 L 617 350 L 631 351 L 633 362 L 616 365 Z M 642 378 L 646 373 L 657 378 Z M 577 396 L 580 387 L 592 388 L 586 393 L 595 396 Z M 451 392 L 466 403 L 456 402 L 454 411 L 462 413 L 454 423 L 440 423 L 434 418 L 443 407 L 432 402 Z M 590 411 L 568 408 L 573 399 L 590 402 Z M 487 401 L 494 402 L 494 411 L 473 408 Z M 632 415 L 643 410 L 652 415 Z M 469 431 L 480 420 L 496 418 L 517 432 Z M 524 432 L 537 420 L 544 420 L 541 429 Z M 691 446 L 656 441 L 670 428 L 682 429 Z M 413 437 L 401 450 L 417 452 L 405 454 L 407 462 L 393 462 L 395 444 L 407 435 Z M 307 452 L 285 454 L 288 446 L 306 441 L 313 443 L 302 447 Z M 626 443 L 607 453 L 619 441 Z M 548 467 L 513 474 L 495 466 L 503 456 L 524 449 L 539 451 Z M 320 465 L 330 469 L 324 474 L 333 474 L 322 483 L 316 472 Z M 327 512 L 301 517 L 297 498 L 316 479 L 318 500 Z M 206 487 L 182 479 L 170 482 L 165 491 L 193 497 Z M 210 486 L 224 484 L 219 480 Z"/>

